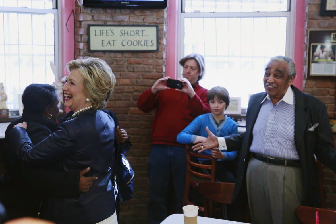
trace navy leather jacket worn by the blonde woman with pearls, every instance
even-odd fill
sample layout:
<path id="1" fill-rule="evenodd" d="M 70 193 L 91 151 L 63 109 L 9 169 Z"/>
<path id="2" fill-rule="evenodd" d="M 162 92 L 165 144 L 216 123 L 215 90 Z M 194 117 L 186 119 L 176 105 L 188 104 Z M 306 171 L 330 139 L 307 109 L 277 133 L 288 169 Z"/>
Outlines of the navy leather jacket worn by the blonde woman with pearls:
<path id="1" fill-rule="evenodd" d="M 28 164 L 60 161 L 60 170 L 90 167 L 88 176 L 96 176 L 90 190 L 78 197 L 50 198 L 47 216 L 56 223 L 97 223 L 115 212 L 112 188 L 115 123 L 102 110 L 80 114 L 61 123 L 49 137 L 33 145 L 24 128 L 9 132 L 17 156 Z"/>

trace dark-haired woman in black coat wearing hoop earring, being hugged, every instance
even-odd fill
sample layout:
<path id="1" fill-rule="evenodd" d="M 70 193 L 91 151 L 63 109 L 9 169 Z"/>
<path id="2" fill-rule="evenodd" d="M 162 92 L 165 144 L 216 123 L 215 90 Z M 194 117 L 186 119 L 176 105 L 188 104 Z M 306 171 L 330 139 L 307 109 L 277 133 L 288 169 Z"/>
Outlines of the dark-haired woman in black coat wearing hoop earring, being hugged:
<path id="1" fill-rule="evenodd" d="M 47 84 L 31 84 L 26 87 L 22 102 L 22 118 L 14 120 L 6 129 L 7 133 L 14 125 L 27 122 L 28 136 L 35 145 L 55 131 L 59 108 L 58 94 L 55 87 Z M 38 102 L 38 103 L 37 103 Z M 50 164 L 42 168 L 24 166 L 17 159 L 16 150 L 5 142 L 1 152 L 5 162 L 5 174 L 0 181 L 0 201 L 4 204 L 8 219 L 31 216 L 37 217 L 43 211 L 43 197 L 76 196 L 85 186 L 92 183 L 92 178 L 84 177 L 87 170 L 60 172 Z M 52 177 L 52 178 L 50 178 Z M 41 213 L 43 217 L 43 212 Z"/>

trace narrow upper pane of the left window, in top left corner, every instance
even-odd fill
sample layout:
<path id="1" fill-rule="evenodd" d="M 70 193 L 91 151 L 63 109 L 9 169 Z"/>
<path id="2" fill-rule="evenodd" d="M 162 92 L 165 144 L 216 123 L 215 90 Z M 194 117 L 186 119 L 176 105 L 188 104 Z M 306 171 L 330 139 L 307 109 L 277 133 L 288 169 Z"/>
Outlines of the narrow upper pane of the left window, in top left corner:
<path id="1" fill-rule="evenodd" d="M 52 0 L 0 0 L 0 6 L 52 9 Z"/>

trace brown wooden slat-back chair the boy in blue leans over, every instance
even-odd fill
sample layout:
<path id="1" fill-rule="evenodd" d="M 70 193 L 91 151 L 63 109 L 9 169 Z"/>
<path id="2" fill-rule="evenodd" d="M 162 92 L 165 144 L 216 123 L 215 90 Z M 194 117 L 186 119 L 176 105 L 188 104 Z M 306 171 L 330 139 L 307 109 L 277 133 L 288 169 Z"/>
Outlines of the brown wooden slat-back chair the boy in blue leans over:
<path id="1" fill-rule="evenodd" d="M 203 155 L 197 152 L 192 152 L 189 145 L 185 145 L 186 150 L 186 160 L 187 160 L 187 172 L 185 178 L 185 190 L 183 197 L 183 206 L 185 205 L 196 205 L 189 200 L 189 189 L 190 187 L 196 189 L 196 184 L 202 181 L 215 181 L 215 172 L 216 172 L 216 159 L 211 155 Z M 210 165 L 199 164 L 197 158 L 211 160 Z M 202 170 L 209 171 L 209 174 L 206 174 Z M 204 207 L 196 205 L 199 207 L 199 211 L 204 212 Z"/>

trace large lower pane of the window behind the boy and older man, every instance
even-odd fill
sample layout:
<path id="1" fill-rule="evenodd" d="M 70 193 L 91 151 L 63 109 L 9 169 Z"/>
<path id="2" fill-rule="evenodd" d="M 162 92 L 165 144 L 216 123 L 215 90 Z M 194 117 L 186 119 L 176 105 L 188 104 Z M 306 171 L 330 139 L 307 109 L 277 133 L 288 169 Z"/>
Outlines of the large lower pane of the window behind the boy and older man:
<path id="1" fill-rule="evenodd" d="M 269 58 L 286 54 L 286 22 L 286 17 L 185 18 L 184 55 L 204 55 L 200 84 L 223 86 L 247 107 L 249 94 L 264 91 Z"/>

